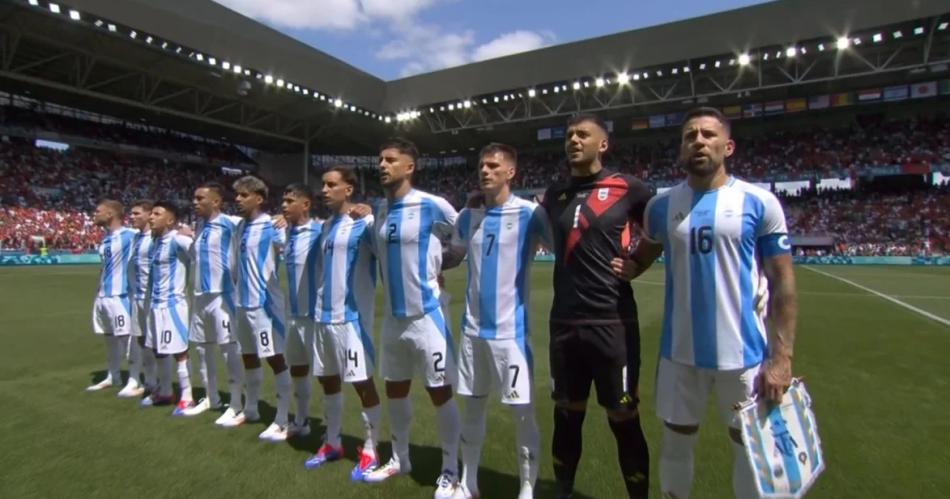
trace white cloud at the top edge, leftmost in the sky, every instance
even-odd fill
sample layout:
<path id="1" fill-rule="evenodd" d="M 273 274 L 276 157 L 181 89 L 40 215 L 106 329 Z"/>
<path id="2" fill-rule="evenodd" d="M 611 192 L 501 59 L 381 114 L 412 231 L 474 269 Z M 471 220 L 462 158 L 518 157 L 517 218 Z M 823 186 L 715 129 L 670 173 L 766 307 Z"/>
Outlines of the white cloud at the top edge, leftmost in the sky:
<path id="1" fill-rule="evenodd" d="M 405 21 L 437 0 L 215 0 L 281 28 L 349 30 L 378 19 Z"/>

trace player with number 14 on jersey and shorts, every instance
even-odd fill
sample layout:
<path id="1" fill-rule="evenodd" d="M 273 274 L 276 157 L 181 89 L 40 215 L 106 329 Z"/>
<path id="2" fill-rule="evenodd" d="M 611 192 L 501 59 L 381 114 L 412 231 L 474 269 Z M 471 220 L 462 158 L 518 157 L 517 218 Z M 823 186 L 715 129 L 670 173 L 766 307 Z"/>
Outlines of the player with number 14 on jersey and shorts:
<path id="1" fill-rule="evenodd" d="M 320 238 L 321 272 L 314 317 L 317 321 L 314 375 L 323 387 L 327 434 L 307 468 L 343 457 L 340 428 L 343 419 L 341 383 L 351 383 L 363 407 L 365 440 L 357 450 L 359 461 L 350 473 L 353 481 L 378 464 L 380 405 L 373 371 L 373 313 L 376 288 L 376 257 L 372 215 L 355 217 L 350 212 L 356 172 L 336 166 L 323 174 L 323 202 L 331 212 Z"/>

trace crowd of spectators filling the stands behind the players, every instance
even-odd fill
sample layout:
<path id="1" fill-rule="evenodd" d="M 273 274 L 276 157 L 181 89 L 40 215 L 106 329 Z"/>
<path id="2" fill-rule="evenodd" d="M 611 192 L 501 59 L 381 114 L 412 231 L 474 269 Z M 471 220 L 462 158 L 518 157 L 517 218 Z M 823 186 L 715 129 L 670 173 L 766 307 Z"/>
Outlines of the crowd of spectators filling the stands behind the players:
<path id="1" fill-rule="evenodd" d="M 130 135 L 123 134 L 131 133 L 81 124 L 78 119 L 53 120 L 19 108 L 6 107 L 0 112 L 7 120 L 11 113 L 19 123 L 33 116 L 42 119 L 43 126 L 57 121 L 107 140 L 124 140 Z M 682 172 L 675 165 L 673 140 L 652 144 L 618 141 L 607 155 L 607 165 L 660 185 L 678 181 Z M 171 147 L 157 138 L 143 142 Z M 739 146 L 729 168 L 737 176 L 753 180 L 778 175 L 794 178 L 807 172 L 853 173 L 865 165 L 950 163 L 950 120 L 943 115 L 896 121 L 863 116 L 849 128 L 775 132 L 740 139 Z M 512 185 L 515 189 L 541 189 L 557 180 L 564 168 L 560 149 L 528 150 L 519 158 L 518 176 Z M 216 168 L 133 160 L 75 148 L 57 152 L 7 139 L 0 143 L 0 245 L 28 249 L 33 236 L 39 235 L 51 249 L 89 250 L 100 237 L 89 216 L 98 199 L 112 197 L 126 203 L 136 198 L 170 199 L 187 204 L 191 187 L 209 180 L 230 183 Z M 361 183 L 364 198 L 381 195 L 374 169 L 361 171 Z M 415 183 L 461 206 L 468 193 L 478 189 L 478 176 L 469 162 L 420 168 Z M 793 233 L 833 235 L 839 253 L 950 252 L 950 192 L 946 187 L 889 195 L 806 192 L 784 202 Z"/>

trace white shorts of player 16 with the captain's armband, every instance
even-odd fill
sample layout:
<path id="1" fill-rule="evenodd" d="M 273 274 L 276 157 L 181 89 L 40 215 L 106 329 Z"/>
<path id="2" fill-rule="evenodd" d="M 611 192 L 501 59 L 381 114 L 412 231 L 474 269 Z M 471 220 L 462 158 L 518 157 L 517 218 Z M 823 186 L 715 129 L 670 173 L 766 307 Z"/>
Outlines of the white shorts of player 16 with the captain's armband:
<path id="1" fill-rule="evenodd" d="M 706 414 L 706 399 L 715 390 L 722 422 L 738 428 L 735 406 L 752 395 L 758 373 L 758 365 L 717 371 L 661 358 L 656 373 L 656 415 L 670 424 L 698 426 Z"/>

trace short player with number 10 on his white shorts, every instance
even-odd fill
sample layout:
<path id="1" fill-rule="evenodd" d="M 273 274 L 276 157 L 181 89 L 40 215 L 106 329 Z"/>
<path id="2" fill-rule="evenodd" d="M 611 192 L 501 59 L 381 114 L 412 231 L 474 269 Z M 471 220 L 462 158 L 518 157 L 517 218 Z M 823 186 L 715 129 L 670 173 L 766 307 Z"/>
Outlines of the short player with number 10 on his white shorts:
<path id="1" fill-rule="evenodd" d="M 188 371 L 188 301 L 185 297 L 194 241 L 175 230 L 178 208 L 171 202 L 156 202 L 148 222 L 152 229 L 152 248 L 145 298 L 149 306 L 145 345 L 155 351 L 161 373 L 158 391 L 142 399 L 142 406 L 162 405 L 171 400 L 171 359 L 174 357 L 181 397 L 172 415 L 183 416 L 185 410 L 195 405 Z"/>

